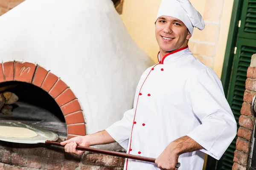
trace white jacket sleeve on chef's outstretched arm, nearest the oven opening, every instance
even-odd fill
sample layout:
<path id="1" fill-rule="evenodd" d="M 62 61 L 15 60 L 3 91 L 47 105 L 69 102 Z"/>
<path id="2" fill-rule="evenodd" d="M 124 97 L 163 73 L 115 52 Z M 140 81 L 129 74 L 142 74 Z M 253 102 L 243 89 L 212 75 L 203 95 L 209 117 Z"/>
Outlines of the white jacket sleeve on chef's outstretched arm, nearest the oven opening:
<path id="1" fill-rule="evenodd" d="M 131 134 L 131 127 L 133 125 L 134 111 L 128 110 L 124 113 L 121 120 L 113 123 L 110 127 L 105 129 L 110 136 L 118 142 L 125 150 L 128 147 L 129 137 Z"/>

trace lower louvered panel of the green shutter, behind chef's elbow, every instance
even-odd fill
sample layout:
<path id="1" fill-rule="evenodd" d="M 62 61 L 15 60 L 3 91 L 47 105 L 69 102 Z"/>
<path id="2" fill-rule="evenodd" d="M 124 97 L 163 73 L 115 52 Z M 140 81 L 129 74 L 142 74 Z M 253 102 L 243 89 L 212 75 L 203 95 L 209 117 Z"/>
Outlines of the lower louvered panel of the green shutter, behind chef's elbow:
<path id="1" fill-rule="evenodd" d="M 228 102 L 235 116 L 237 127 L 243 104 L 245 80 L 247 69 L 250 66 L 251 56 L 256 54 L 256 40 L 239 38 L 236 45 L 236 55 L 233 62 L 233 70 L 228 94 Z M 236 150 L 236 139 L 228 147 L 227 151 L 218 161 L 217 170 L 231 170 L 233 166 L 234 151 Z"/>

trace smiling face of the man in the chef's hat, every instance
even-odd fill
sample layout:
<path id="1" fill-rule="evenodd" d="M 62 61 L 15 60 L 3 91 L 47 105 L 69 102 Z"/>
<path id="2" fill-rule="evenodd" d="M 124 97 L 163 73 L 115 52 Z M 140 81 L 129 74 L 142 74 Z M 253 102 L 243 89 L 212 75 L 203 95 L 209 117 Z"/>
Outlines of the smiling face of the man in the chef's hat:
<path id="1" fill-rule="evenodd" d="M 182 21 L 169 16 L 161 16 L 157 19 L 155 34 L 160 51 L 164 53 L 185 47 L 191 37 Z"/>

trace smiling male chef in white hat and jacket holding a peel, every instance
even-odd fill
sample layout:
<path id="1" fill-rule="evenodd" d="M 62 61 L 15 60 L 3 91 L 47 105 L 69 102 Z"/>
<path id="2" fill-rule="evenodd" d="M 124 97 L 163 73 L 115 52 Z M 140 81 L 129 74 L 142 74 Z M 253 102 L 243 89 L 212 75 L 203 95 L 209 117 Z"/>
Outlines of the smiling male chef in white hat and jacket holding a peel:
<path id="1" fill-rule="evenodd" d="M 118 142 L 127 153 L 156 158 L 126 159 L 124 170 L 202 170 L 204 156 L 220 159 L 236 136 L 236 120 L 221 81 L 188 47 L 194 27 L 204 20 L 189 0 L 162 0 L 155 23 L 158 63 L 140 78 L 133 109 L 98 133 L 62 142 L 77 145 Z"/>

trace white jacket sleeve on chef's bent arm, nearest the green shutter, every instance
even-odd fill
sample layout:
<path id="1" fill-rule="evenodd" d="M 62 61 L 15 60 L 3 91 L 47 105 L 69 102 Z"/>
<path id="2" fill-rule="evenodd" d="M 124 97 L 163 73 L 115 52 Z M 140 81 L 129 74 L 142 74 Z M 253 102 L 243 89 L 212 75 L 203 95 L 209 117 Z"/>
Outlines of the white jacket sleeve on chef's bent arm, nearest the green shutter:
<path id="1" fill-rule="evenodd" d="M 189 97 L 201 125 L 187 136 L 204 147 L 202 152 L 219 160 L 235 138 L 237 124 L 215 72 L 206 69 L 191 77 Z"/>

